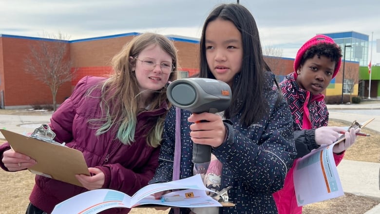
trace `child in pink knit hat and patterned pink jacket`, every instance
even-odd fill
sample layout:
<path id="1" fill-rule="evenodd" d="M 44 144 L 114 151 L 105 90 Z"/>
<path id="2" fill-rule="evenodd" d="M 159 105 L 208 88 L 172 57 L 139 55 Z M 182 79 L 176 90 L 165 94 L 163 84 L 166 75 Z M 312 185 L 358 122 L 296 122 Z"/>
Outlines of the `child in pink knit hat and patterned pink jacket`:
<path id="1" fill-rule="evenodd" d="M 338 139 L 338 132 L 345 132 L 345 141 L 333 148 L 338 165 L 344 151 L 355 142 L 355 132 L 360 130 L 347 132 L 342 127 L 327 127 L 328 111 L 322 92 L 338 74 L 341 61 L 342 51 L 334 40 L 317 35 L 300 48 L 294 60 L 294 72 L 280 83 L 293 116 L 297 157 L 310 153 L 322 144 L 332 144 Z M 279 214 L 302 213 L 294 191 L 293 170 L 294 167 L 287 173 L 284 188 L 273 194 Z"/>

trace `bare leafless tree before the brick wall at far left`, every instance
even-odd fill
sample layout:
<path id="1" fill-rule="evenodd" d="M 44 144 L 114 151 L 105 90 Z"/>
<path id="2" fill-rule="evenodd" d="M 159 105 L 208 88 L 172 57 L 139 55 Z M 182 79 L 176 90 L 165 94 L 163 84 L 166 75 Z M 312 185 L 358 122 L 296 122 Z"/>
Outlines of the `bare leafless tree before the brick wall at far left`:
<path id="1" fill-rule="evenodd" d="M 57 91 L 65 82 L 74 78 L 76 70 L 71 69 L 68 36 L 44 32 L 43 38 L 30 45 L 30 55 L 25 59 L 25 72 L 49 86 L 53 97 L 53 110 L 57 110 Z"/>

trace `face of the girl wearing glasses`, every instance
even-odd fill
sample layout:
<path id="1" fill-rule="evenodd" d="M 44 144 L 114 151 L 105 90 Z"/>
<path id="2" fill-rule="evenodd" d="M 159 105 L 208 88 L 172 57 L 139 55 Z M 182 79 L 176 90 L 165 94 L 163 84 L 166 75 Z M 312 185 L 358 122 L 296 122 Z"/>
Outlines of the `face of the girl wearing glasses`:
<path id="1" fill-rule="evenodd" d="M 167 66 L 172 66 L 172 60 L 159 45 L 146 47 L 131 61 L 134 61 L 133 70 L 140 92 L 160 90 L 168 82 L 171 73 L 167 71 Z"/>

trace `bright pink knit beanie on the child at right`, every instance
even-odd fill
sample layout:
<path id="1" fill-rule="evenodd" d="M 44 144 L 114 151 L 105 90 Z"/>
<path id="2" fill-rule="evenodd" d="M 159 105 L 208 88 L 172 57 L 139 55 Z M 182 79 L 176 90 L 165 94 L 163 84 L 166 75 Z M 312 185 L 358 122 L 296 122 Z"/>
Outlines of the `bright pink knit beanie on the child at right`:
<path id="1" fill-rule="evenodd" d="M 300 48 L 300 50 L 298 50 L 296 58 L 294 59 L 294 66 L 293 66 L 293 68 L 294 68 L 294 78 L 297 78 L 297 76 L 298 76 L 297 75 L 297 69 L 300 66 L 301 59 L 304 56 L 304 54 L 307 51 L 307 49 L 309 49 L 311 46 L 316 45 L 316 44 L 318 44 L 320 42 L 335 44 L 335 42 L 334 42 L 333 39 L 331 39 L 330 37 L 324 36 L 324 35 L 317 35 L 317 36 L 309 39 L 308 41 L 306 41 L 304 43 L 304 45 L 302 45 L 302 47 Z M 339 68 L 341 68 L 341 64 L 342 64 L 342 57 L 339 58 L 339 60 L 337 62 L 337 65 L 335 66 L 335 70 L 334 70 L 334 74 L 333 74 L 332 78 L 334 78 L 335 76 L 337 76 Z"/>

